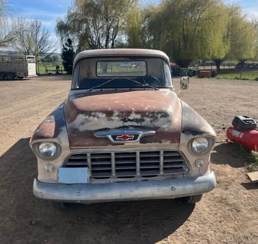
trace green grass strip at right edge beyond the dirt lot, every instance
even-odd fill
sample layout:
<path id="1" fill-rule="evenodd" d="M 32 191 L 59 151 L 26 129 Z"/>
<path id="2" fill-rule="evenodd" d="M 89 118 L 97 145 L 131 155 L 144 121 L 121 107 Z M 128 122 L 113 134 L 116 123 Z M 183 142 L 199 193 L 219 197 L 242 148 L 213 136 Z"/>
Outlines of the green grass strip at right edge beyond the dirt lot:
<path id="1" fill-rule="evenodd" d="M 241 78 L 240 78 L 240 70 L 238 70 L 238 69 L 221 69 L 218 72 L 217 79 L 258 81 L 258 69 L 243 70 Z"/>

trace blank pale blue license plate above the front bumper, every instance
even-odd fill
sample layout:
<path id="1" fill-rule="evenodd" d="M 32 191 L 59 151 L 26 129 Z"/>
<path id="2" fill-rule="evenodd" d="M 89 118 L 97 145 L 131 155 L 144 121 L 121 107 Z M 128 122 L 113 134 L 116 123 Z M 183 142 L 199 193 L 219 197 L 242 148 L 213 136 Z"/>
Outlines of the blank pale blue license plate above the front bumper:
<path id="1" fill-rule="evenodd" d="M 58 182 L 65 184 L 89 183 L 89 169 L 83 168 L 59 168 Z"/>

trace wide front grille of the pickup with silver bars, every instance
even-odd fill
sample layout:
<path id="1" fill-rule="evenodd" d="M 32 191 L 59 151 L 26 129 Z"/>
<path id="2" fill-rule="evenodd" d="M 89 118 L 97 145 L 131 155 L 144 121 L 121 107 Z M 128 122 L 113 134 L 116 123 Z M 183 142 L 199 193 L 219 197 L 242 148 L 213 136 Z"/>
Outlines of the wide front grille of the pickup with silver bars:
<path id="1" fill-rule="evenodd" d="M 88 167 L 93 178 L 155 177 L 188 171 L 182 153 L 175 150 L 76 153 L 63 167 Z"/>

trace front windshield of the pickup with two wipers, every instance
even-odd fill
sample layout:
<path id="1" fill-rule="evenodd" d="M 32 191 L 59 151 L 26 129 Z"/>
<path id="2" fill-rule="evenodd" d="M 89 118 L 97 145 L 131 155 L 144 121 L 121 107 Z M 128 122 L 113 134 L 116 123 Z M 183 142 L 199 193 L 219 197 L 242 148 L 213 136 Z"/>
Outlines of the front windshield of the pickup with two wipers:
<path id="1" fill-rule="evenodd" d="M 147 85 L 157 88 L 173 87 L 170 69 L 164 59 L 156 57 L 82 59 L 76 64 L 72 79 L 72 89 L 146 88 Z"/>

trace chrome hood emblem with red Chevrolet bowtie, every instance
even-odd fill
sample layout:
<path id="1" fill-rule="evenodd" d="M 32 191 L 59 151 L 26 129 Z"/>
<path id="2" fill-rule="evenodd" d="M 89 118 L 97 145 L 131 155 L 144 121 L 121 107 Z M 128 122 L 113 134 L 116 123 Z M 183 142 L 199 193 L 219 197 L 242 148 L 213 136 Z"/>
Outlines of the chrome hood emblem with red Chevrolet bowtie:
<path id="1" fill-rule="evenodd" d="M 154 135 L 154 130 L 108 130 L 94 132 L 95 137 L 107 137 L 112 143 L 139 142 L 141 137 Z"/>

